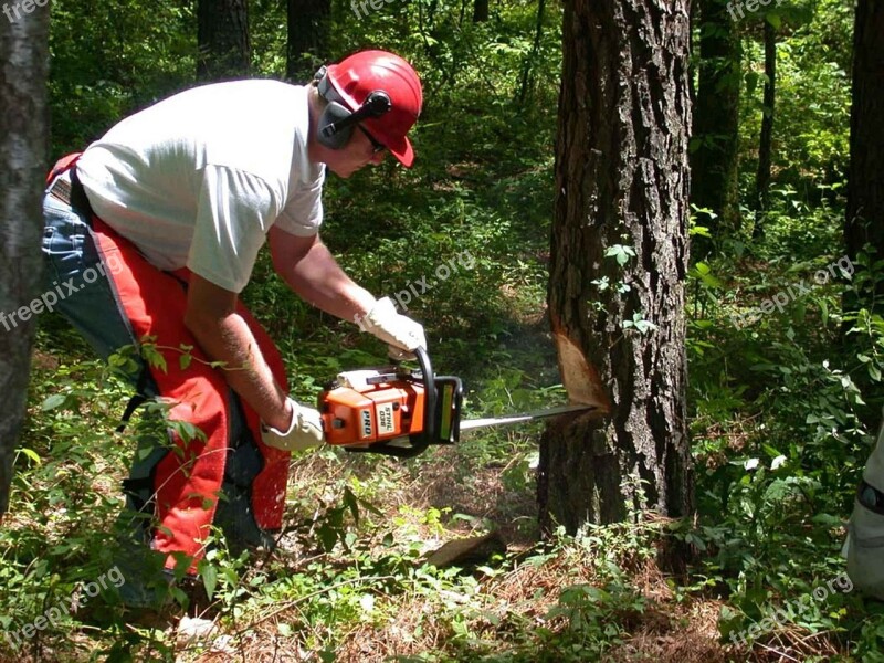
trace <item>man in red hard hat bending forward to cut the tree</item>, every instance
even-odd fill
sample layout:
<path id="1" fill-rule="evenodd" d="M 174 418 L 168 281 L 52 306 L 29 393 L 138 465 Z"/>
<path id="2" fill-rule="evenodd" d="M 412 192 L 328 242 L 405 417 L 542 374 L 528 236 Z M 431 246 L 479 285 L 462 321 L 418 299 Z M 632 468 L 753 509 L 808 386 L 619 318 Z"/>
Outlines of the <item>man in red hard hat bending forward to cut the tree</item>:
<path id="1" fill-rule="evenodd" d="M 287 393 L 276 348 L 239 301 L 265 241 L 275 271 L 314 306 L 400 357 L 425 347 L 421 325 L 354 283 L 318 234 L 325 169 L 347 178 L 387 151 L 410 167 L 421 104 L 411 65 L 366 51 L 308 86 L 177 94 L 51 175 L 48 272 L 71 284 L 60 311 L 105 357 L 145 337 L 164 356 L 137 382 L 170 402 L 171 441 L 139 450 L 125 487 L 129 506 L 158 520 L 148 538 L 167 570 L 196 571 L 213 522 L 232 544 L 272 545 L 288 452 L 323 441 L 319 413 Z"/>

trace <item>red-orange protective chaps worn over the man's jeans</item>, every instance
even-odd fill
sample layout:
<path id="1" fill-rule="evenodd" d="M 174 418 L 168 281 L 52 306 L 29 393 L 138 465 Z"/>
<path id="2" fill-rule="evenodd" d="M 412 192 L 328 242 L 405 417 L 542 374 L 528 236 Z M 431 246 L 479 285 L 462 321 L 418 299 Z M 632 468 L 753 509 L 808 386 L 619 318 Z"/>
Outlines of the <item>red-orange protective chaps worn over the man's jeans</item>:
<path id="1" fill-rule="evenodd" d="M 50 181 L 71 169 L 77 156 L 62 159 Z M 168 429 L 170 443 L 165 452 L 155 450 L 150 460 L 136 459 L 126 482 L 130 505 L 156 517 L 151 547 L 167 555 L 166 568 L 173 568 L 177 554 L 185 554 L 194 571 L 222 491 L 221 508 L 227 515 L 221 524 L 232 519 L 234 537 L 266 544 L 266 533 L 282 526 L 290 454 L 261 441 L 257 414 L 230 389 L 224 369 L 211 368 L 211 359 L 186 328 L 190 273 L 160 271 L 101 219 L 75 211 L 85 214 L 91 225 L 91 239 L 116 299 L 116 311 L 107 315 L 122 316 L 133 339 L 149 337 L 145 343 L 152 344 L 165 360 L 165 366 L 151 361 L 154 366 L 145 368 L 149 377 L 143 376 L 139 385 L 150 385 L 149 394 L 169 404 L 167 415 L 176 422 Z M 272 339 L 241 303 L 236 313 L 252 330 L 277 383 L 287 391 L 283 361 Z M 139 497 L 133 502 L 136 494 Z"/>

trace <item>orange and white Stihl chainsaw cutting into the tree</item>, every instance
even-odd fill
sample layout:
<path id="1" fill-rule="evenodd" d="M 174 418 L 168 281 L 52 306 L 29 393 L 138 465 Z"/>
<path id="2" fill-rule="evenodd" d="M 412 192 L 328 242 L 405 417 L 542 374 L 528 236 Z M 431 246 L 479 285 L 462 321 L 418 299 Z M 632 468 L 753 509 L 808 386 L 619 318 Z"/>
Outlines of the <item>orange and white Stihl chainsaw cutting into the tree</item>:
<path id="1" fill-rule="evenodd" d="M 454 444 L 473 429 L 534 421 L 591 409 L 578 404 L 461 421 L 463 383 L 436 376 L 430 356 L 415 350 L 420 370 L 402 365 L 338 373 L 319 394 L 325 441 L 350 452 L 412 457 L 433 444 Z"/>

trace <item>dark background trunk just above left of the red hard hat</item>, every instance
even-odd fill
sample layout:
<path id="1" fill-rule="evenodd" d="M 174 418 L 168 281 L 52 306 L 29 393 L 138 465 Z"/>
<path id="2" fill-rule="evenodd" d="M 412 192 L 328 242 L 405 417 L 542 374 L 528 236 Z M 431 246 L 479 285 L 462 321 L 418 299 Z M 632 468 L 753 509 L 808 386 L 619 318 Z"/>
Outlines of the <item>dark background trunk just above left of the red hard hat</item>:
<path id="1" fill-rule="evenodd" d="M 330 14 L 330 0 L 288 0 L 286 76 L 290 81 L 309 81 L 328 60 Z"/>

